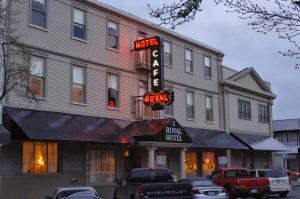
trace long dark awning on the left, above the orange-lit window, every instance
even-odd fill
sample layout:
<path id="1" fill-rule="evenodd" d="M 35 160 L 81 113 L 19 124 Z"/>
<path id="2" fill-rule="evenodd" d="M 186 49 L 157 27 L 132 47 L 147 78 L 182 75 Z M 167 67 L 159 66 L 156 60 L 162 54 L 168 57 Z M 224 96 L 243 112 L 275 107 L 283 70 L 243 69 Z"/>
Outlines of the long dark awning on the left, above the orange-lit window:
<path id="1" fill-rule="evenodd" d="M 12 107 L 4 112 L 3 124 L 14 137 L 21 130 L 31 140 L 119 143 L 121 128 L 113 119 Z"/>

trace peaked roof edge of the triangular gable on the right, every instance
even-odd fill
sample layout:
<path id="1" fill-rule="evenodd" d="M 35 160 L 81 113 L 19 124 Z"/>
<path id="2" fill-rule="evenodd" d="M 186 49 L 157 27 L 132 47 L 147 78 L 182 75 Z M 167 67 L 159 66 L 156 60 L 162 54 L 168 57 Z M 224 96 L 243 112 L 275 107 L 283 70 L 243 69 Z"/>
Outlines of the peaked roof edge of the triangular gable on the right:
<path id="1" fill-rule="evenodd" d="M 257 82 L 257 84 L 261 87 L 263 91 L 272 93 L 271 88 L 268 86 L 268 84 L 258 75 L 258 73 L 255 71 L 253 67 L 244 68 L 240 72 L 237 72 L 236 74 L 228 77 L 228 80 L 231 81 L 237 81 L 238 79 L 241 79 L 245 75 L 250 74 L 253 79 Z"/>

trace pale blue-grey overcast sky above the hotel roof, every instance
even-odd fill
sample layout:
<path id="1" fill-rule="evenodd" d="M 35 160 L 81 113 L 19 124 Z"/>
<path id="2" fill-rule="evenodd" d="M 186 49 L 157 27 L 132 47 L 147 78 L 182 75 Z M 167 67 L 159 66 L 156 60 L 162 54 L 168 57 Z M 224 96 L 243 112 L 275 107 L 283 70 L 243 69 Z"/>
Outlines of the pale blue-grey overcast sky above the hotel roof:
<path id="1" fill-rule="evenodd" d="M 147 3 L 154 8 L 162 2 L 151 0 L 100 0 L 106 4 L 130 12 L 157 23 L 148 15 Z M 274 119 L 300 118 L 300 70 L 295 70 L 295 60 L 283 57 L 278 51 L 288 49 L 285 40 L 276 34 L 256 33 L 246 21 L 238 19 L 226 8 L 216 6 L 213 1 L 203 1 L 203 11 L 193 22 L 176 28 L 176 32 L 222 50 L 223 64 L 241 70 L 254 67 L 259 75 L 272 84 L 277 95 L 273 105 Z"/>

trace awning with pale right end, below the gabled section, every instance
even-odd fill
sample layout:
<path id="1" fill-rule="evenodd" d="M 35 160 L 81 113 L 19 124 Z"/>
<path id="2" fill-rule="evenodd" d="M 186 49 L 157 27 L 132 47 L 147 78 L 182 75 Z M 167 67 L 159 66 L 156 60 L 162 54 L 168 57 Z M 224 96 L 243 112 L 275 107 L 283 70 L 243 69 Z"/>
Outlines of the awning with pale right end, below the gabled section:
<path id="1" fill-rule="evenodd" d="M 235 139 L 253 150 L 261 151 L 285 151 L 288 147 L 270 136 L 262 136 L 247 133 L 230 133 Z"/>

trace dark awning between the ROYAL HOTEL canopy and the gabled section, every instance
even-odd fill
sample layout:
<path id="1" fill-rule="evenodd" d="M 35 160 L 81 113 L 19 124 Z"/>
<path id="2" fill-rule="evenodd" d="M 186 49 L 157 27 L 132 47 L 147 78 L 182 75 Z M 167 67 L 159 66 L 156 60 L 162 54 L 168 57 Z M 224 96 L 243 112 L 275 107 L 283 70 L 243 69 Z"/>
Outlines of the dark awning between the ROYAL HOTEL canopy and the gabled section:
<path id="1" fill-rule="evenodd" d="M 191 135 L 192 147 L 207 149 L 248 149 L 224 131 L 185 127 Z"/>

